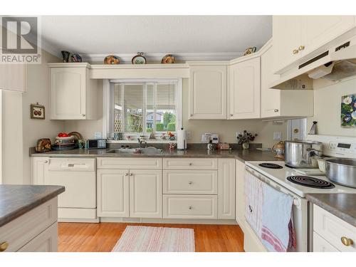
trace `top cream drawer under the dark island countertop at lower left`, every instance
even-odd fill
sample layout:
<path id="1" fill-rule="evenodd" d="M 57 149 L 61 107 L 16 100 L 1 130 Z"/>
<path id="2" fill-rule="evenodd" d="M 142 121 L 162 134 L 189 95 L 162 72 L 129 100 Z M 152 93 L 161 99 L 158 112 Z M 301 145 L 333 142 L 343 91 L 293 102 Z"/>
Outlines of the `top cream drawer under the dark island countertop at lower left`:
<path id="1" fill-rule="evenodd" d="M 0 227 L 0 243 L 7 241 L 6 251 L 18 251 L 19 248 L 38 236 L 57 221 L 57 197 L 28 211 L 14 221 Z"/>

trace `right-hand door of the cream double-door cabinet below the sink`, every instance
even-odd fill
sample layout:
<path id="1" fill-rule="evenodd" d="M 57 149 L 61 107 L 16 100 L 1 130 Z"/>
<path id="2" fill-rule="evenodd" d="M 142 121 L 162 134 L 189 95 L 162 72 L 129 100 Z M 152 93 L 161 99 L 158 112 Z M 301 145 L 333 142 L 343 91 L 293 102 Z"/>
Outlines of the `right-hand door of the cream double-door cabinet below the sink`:
<path id="1" fill-rule="evenodd" d="M 162 171 L 130 169 L 130 217 L 162 218 Z"/>

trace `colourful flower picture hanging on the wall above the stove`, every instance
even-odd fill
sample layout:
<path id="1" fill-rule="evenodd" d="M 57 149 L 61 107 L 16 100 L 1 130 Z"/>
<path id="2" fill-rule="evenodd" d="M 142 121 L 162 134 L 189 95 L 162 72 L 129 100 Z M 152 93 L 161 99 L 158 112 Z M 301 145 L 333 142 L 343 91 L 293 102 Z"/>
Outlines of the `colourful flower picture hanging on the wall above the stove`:
<path id="1" fill-rule="evenodd" d="M 341 98 L 341 126 L 356 127 L 356 94 Z"/>

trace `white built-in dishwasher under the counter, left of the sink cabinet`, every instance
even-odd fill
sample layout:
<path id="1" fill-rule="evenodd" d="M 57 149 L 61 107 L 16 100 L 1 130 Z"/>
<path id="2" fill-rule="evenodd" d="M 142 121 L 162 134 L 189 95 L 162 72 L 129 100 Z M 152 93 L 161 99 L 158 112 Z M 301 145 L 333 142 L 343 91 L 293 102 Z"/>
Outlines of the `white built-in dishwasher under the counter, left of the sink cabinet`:
<path id="1" fill-rule="evenodd" d="M 51 158 L 45 183 L 66 187 L 58 196 L 61 221 L 96 219 L 95 159 Z"/>

